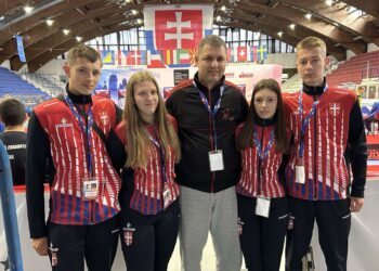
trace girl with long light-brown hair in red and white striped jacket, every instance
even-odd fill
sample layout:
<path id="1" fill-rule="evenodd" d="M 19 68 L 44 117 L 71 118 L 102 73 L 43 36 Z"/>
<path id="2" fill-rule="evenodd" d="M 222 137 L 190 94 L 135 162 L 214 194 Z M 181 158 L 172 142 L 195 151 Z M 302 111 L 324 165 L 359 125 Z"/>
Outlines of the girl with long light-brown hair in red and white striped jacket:
<path id="1" fill-rule="evenodd" d="M 123 121 L 109 136 L 108 152 L 122 176 L 120 236 L 128 271 L 166 271 L 174 249 L 181 157 L 177 122 L 166 112 L 156 79 L 133 74 Z"/>

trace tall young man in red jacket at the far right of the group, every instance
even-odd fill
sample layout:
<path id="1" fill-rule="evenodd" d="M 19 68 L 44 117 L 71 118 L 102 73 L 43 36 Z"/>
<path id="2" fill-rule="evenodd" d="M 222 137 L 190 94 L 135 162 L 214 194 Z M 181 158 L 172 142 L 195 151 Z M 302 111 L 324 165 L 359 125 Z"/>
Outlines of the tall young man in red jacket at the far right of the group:
<path id="1" fill-rule="evenodd" d="M 303 86 L 299 92 L 284 95 L 293 134 L 287 168 L 288 271 L 302 270 L 314 221 L 328 270 L 347 270 L 351 211 L 360 211 L 364 203 L 367 146 L 360 102 L 353 91 L 327 85 L 327 64 L 322 39 L 300 41 L 297 68 Z M 350 160 L 345 159 L 348 153 Z"/>

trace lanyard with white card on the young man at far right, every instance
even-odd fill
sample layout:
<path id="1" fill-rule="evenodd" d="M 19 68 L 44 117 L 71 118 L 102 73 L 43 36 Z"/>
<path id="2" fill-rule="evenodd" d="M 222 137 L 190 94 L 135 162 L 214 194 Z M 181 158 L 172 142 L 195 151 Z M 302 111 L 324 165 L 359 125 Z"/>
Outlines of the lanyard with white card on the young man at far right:
<path id="1" fill-rule="evenodd" d="M 328 86 L 326 85 L 324 88 L 323 93 L 325 93 L 328 90 Z M 310 113 L 308 116 L 303 119 L 303 103 L 302 103 L 302 94 L 303 89 L 301 89 L 299 93 L 298 99 L 298 107 L 299 107 L 299 117 L 300 117 L 300 124 L 301 124 L 301 130 L 300 130 L 300 145 L 299 145 L 299 154 L 298 154 L 298 160 L 295 167 L 296 170 L 296 182 L 300 184 L 305 183 L 305 167 L 304 167 L 304 136 L 305 130 L 308 129 L 310 125 L 311 118 L 314 117 L 316 113 L 317 105 L 319 103 L 319 100 L 314 101 L 311 107 Z"/>

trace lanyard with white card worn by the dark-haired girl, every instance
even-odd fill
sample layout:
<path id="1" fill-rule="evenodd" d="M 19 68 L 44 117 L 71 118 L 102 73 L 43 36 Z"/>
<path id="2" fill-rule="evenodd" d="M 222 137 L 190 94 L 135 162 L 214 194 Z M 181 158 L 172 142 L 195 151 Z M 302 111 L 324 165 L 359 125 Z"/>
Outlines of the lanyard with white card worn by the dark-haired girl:
<path id="1" fill-rule="evenodd" d="M 257 146 L 257 154 L 258 154 L 258 159 L 259 159 L 260 165 L 262 165 L 262 162 L 269 157 L 269 153 L 270 153 L 271 149 L 273 147 L 274 141 L 275 141 L 275 131 L 273 129 L 270 133 L 269 143 L 267 143 L 266 147 L 263 149 L 261 141 L 258 138 L 258 132 L 254 129 L 253 142 Z M 263 181 L 264 181 L 263 176 L 261 175 L 261 171 L 262 171 L 262 168 L 259 167 L 259 177 L 260 177 L 259 180 L 261 180 L 261 183 L 258 183 L 258 188 L 259 188 L 258 194 L 259 195 L 257 196 L 256 215 L 267 218 L 270 216 L 271 198 L 261 195 Z"/>

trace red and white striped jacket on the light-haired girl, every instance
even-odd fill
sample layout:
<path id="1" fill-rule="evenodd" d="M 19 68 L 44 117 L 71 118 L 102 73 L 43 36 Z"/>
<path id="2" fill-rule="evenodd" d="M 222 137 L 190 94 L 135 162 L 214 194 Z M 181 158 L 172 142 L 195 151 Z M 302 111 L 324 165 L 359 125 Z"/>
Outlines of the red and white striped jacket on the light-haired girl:
<path id="1" fill-rule="evenodd" d="M 177 122 L 173 117 L 169 116 L 169 121 L 177 129 Z M 117 139 L 112 134 L 109 138 L 109 144 L 115 145 L 125 145 L 127 142 L 126 139 L 126 122 L 120 122 L 117 127 L 115 127 L 114 132 L 117 136 Z M 154 130 L 156 127 L 154 125 L 146 126 L 146 131 L 149 133 L 152 138 L 156 139 L 156 132 Z M 116 142 L 116 140 L 120 142 Z M 158 139 L 159 141 L 159 139 Z M 110 150 L 115 150 L 117 152 L 116 146 Z M 108 149 L 108 150 L 109 150 Z M 117 147 L 118 152 L 125 152 L 125 147 Z M 120 154 L 115 154 L 114 151 L 109 151 L 110 156 L 119 156 Z M 127 155 L 127 154 L 126 154 Z M 123 156 L 122 163 L 117 164 L 125 165 L 127 160 L 127 156 Z M 113 158 L 114 160 L 114 158 Z M 121 208 L 125 205 L 129 206 L 131 209 L 136 210 L 143 215 L 156 215 L 159 211 L 164 210 L 164 178 L 161 176 L 161 165 L 160 165 L 160 154 L 159 149 L 155 144 L 152 144 L 151 150 L 148 150 L 148 160 L 146 168 L 134 168 L 133 179 L 130 178 L 130 175 L 122 175 L 122 190 L 121 193 L 129 193 L 127 188 L 133 188 L 133 192 L 131 198 L 129 201 L 125 195 L 120 196 Z M 167 177 L 167 185 L 170 190 L 170 204 L 172 204 L 180 194 L 179 184 L 175 182 L 175 173 L 174 173 L 174 164 L 175 164 L 175 155 L 172 149 L 170 152 L 166 153 L 166 177 Z M 115 164 L 114 164 L 115 165 Z M 116 169 L 119 166 L 116 166 Z M 127 169 L 126 169 L 127 170 Z M 125 170 L 125 171 L 126 171 Z M 133 182 L 133 185 L 128 185 L 128 182 Z M 123 203 L 123 199 L 129 202 Z"/>

